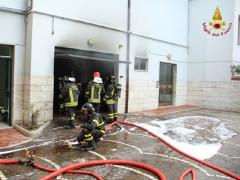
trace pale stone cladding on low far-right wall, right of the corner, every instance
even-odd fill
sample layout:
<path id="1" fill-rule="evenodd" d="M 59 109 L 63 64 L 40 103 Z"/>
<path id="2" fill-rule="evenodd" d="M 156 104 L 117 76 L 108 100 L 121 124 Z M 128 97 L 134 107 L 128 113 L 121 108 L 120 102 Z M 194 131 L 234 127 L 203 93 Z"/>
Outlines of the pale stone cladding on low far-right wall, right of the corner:
<path id="1" fill-rule="evenodd" d="M 187 104 L 240 112 L 240 82 L 188 82 Z"/>

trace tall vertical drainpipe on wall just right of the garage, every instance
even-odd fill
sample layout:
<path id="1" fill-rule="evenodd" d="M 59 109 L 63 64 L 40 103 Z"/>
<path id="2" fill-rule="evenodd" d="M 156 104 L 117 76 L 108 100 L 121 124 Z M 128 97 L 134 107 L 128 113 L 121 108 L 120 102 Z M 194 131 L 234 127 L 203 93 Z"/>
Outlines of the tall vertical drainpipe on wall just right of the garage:
<path id="1" fill-rule="evenodd" d="M 131 0 L 128 0 L 128 14 L 127 14 L 127 76 L 126 76 L 126 104 L 125 113 L 128 113 L 129 100 L 129 62 L 130 62 L 130 20 L 131 20 Z"/>

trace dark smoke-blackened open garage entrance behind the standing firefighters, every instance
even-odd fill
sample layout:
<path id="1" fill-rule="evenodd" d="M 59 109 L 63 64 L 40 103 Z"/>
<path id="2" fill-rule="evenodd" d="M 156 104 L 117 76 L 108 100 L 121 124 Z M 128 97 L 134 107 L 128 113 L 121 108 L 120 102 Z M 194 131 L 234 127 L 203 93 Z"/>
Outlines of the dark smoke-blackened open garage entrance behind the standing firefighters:
<path id="1" fill-rule="evenodd" d="M 87 83 L 93 79 L 93 72 L 99 71 L 103 82 L 108 75 L 118 75 L 119 56 L 117 54 L 55 47 L 54 58 L 54 116 L 59 115 L 59 78 L 74 72 L 76 83 L 81 83 L 81 94 L 77 110 L 86 102 L 84 98 Z M 102 104 L 102 112 L 106 107 Z"/>

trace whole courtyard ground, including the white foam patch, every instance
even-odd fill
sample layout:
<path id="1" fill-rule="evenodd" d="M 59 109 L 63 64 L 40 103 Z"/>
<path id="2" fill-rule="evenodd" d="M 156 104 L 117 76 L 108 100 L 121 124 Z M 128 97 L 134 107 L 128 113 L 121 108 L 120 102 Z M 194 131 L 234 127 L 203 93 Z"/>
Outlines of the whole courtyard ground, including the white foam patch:
<path id="1" fill-rule="evenodd" d="M 70 144 L 79 131 L 64 129 L 67 123 L 64 117 L 55 118 L 40 136 L 34 138 L 20 133 L 15 137 L 7 136 L 6 139 L 6 134 L 4 136 L 2 131 L 0 162 L 28 159 L 28 152 L 33 155 L 35 164 L 52 169 L 80 162 L 127 160 L 153 167 L 167 180 L 180 179 L 190 168 L 197 180 L 240 179 L 240 113 L 183 106 L 121 114 L 119 120 L 130 124 L 112 126 L 98 143 L 97 149 L 89 152 L 71 148 Z M 189 158 L 188 155 L 213 165 L 220 171 Z M 107 164 L 81 168 L 83 169 L 109 180 L 159 179 L 148 170 L 129 165 Z M 1 179 L 40 179 L 49 173 L 29 165 L 0 165 Z M 96 178 L 64 173 L 57 176 L 57 179 Z M 187 175 L 185 179 L 192 179 L 192 175 Z"/>

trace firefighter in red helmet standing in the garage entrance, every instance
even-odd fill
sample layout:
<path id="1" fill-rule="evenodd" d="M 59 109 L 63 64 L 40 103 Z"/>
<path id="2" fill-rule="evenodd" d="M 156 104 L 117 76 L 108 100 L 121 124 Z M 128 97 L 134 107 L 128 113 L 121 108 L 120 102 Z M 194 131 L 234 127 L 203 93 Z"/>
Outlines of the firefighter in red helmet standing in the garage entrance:
<path id="1" fill-rule="evenodd" d="M 105 93 L 105 88 L 99 72 L 94 72 L 93 77 L 94 79 L 89 81 L 86 86 L 85 98 L 87 102 L 92 103 L 93 107 L 95 108 L 95 112 L 99 113 L 102 96 Z"/>

